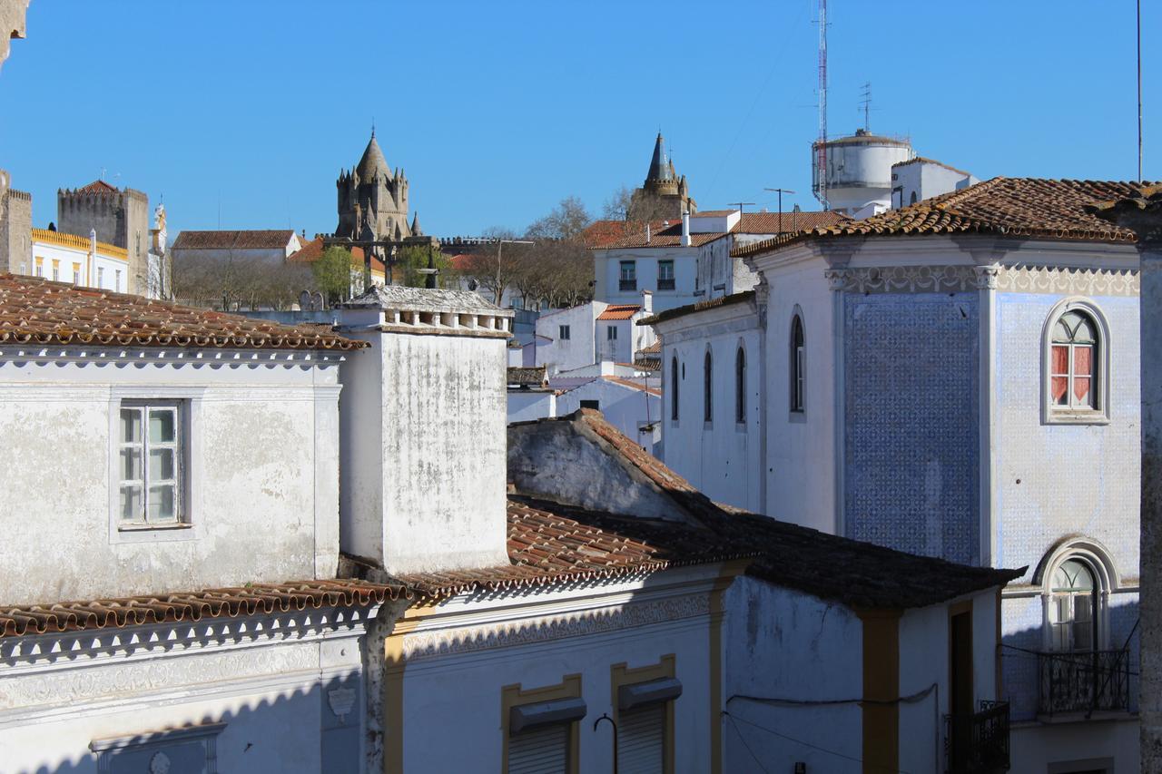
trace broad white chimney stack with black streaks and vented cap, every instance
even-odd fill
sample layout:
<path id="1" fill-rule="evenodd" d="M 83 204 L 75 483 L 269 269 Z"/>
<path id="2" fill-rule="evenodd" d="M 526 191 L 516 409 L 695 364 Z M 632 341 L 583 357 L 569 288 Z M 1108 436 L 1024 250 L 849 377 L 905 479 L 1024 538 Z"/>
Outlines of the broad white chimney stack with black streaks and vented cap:
<path id="1" fill-rule="evenodd" d="M 393 575 L 507 565 L 512 311 L 392 285 L 338 315 L 371 342 L 339 370 L 342 550 Z"/>

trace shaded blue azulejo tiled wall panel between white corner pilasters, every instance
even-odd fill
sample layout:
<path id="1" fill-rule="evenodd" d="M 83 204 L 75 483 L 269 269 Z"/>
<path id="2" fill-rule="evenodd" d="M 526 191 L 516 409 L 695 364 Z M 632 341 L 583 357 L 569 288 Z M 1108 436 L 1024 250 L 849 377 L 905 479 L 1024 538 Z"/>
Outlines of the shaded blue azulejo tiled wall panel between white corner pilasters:
<path id="1" fill-rule="evenodd" d="M 978 562 L 977 294 L 848 294 L 844 315 L 847 536 Z"/>

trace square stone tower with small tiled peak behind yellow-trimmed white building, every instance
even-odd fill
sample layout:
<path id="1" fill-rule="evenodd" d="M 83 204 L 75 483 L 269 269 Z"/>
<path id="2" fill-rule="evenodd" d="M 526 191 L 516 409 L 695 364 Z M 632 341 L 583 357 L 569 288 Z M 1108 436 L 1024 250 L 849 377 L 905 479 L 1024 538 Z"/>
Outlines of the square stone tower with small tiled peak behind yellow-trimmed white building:
<path id="1" fill-rule="evenodd" d="M 132 188 L 114 188 L 105 180 L 57 191 L 57 229 L 88 236 L 129 252 L 127 291 L 149 292 L 149 196 Z"/>

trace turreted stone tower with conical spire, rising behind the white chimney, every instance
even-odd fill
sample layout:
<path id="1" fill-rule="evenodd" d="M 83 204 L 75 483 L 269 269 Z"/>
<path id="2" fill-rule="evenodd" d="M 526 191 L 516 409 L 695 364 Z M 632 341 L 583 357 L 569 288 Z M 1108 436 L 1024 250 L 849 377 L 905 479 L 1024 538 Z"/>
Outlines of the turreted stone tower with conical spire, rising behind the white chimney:
<path id="1" fill-rule="evenodd" d="M 338 188 L 339 225 L 335 236 L 350 239 L 404 239 L 408 225 L 408 178 L 387 165 L 371 130 L 371 142 L 354 170 L 343 170 Z"/>

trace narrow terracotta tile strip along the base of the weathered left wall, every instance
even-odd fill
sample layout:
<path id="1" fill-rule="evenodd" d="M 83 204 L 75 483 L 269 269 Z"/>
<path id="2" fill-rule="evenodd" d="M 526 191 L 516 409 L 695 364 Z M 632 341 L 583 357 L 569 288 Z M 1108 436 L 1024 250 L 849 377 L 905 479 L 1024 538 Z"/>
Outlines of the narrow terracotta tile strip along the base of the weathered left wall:
<path id="1" fill-rule="evenodd" d="M 411 593 L 399 583 L 320 580 L 252 583 L 156 596 L 0 607 L 0 637 L 231 618 L 308 608 L 363 607 L 401 596 L 410 597 Z"/>

